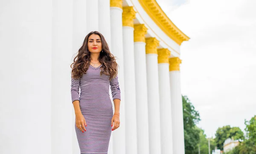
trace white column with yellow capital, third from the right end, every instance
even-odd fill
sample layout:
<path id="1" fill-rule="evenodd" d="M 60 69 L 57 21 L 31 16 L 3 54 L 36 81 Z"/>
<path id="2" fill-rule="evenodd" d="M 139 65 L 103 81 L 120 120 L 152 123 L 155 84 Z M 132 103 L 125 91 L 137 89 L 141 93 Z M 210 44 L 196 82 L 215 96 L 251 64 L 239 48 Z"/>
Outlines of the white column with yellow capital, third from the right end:
<path id="1" fill-rule="evenodd" d="M 157 46 L 159 41 L 156 38 L 146 38 L 150 154 L 161 154 Z"/>

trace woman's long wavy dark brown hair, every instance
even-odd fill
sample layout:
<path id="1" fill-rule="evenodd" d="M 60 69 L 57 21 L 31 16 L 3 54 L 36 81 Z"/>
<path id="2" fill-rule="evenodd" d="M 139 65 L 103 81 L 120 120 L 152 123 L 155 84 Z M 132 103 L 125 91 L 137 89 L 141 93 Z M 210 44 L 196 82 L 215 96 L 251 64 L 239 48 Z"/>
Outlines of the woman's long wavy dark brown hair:
<path id="1" fill-rule="evenodd" d="M 89 68 L 90 65 L 90 52 L 88 50 L 88 38 L 90 35 L 96 34 L 99 35 L 102 42 L 102 51 L 100 51 L 99 62 L 102 63 L 100 75 L 108 75 L 110 80 L 117 75 L 116 59 L 113 54 L 109 51 L 108 43 L 106 42 L 104 36 L 98 31 L 92 31 L 84 38 L 83 45 L 78 50 L 77 56 L 74 58 L 74 62 L 70 65 L 72 68 L 71 74 L 73 78 L 81 78 L 83 73 Z"/>

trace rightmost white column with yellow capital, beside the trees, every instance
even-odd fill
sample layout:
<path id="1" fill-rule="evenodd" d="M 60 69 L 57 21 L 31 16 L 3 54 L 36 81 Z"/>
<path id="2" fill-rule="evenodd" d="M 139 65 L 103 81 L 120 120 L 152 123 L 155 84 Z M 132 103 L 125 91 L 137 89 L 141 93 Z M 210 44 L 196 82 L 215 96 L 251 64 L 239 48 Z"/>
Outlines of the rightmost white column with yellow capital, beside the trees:
<path id="1" fill-rule="evenodd" d="M 178 57 L 169 59 L 174 154 L 185 154 L 183 106 L 180 90 L 180 63 L 181 60 Z"/>

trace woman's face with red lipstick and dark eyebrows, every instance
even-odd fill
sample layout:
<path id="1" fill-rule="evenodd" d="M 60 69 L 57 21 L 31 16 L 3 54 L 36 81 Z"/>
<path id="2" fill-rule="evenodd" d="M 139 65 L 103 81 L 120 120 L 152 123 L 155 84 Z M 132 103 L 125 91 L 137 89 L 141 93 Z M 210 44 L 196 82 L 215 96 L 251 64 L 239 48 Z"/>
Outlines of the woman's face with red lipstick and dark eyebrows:
<path id="1" fill-rule="evenodd" d="M 99 53 L 102 51 L 102 41 L 99 35 L 91 34 L 88 38 L 88 50 L 91 53 Z"/>

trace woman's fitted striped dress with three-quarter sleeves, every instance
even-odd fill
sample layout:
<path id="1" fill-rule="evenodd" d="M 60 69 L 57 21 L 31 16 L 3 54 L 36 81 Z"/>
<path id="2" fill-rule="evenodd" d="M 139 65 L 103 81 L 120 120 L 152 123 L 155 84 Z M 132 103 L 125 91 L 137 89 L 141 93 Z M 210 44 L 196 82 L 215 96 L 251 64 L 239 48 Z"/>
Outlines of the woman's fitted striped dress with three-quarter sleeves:
<path id="1" fill-rule="evenodd" d="M 113 100 L 121 100 L 118 77 L 110 81 L 109 76 L 100 76 L 101 66 L 95 68 L 90 65 L 80 79 L 71 78 L 72 102 L 80 101 L 80 109 L 87 123 L 86 132 L 81 132 L 75 123 L 81 154 L 108 154 L 113 117 L 109 86 Z"/>

